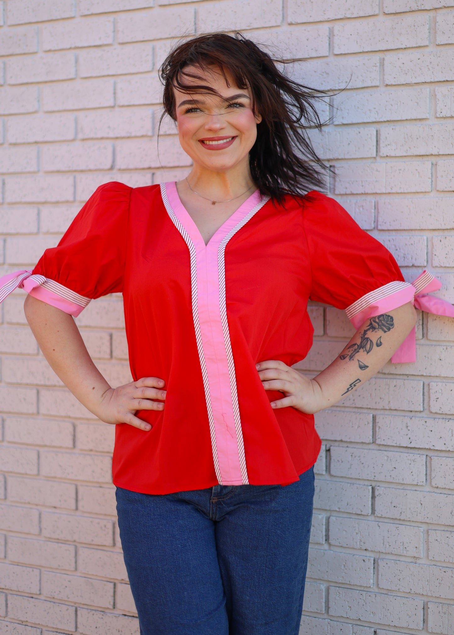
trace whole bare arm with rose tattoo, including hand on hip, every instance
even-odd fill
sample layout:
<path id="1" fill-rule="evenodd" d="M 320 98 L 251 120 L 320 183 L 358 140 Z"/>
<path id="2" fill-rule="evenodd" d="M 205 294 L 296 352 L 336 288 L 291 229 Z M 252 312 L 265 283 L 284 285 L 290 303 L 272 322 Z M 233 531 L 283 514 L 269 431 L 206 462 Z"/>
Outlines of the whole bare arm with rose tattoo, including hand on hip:
<path id="1" fill-rule="evenodd" d="M 272 408 L 293 406 L 315 413 L 340 401 L 382 368 L 397 351 L 416 322 L 413 304 L 367 319 L 356 331 L 340 356 L 308 379 L 281 361 L 257 364 L 265 390 L 282 391 L 285 397 L 272 402 Z"/>

